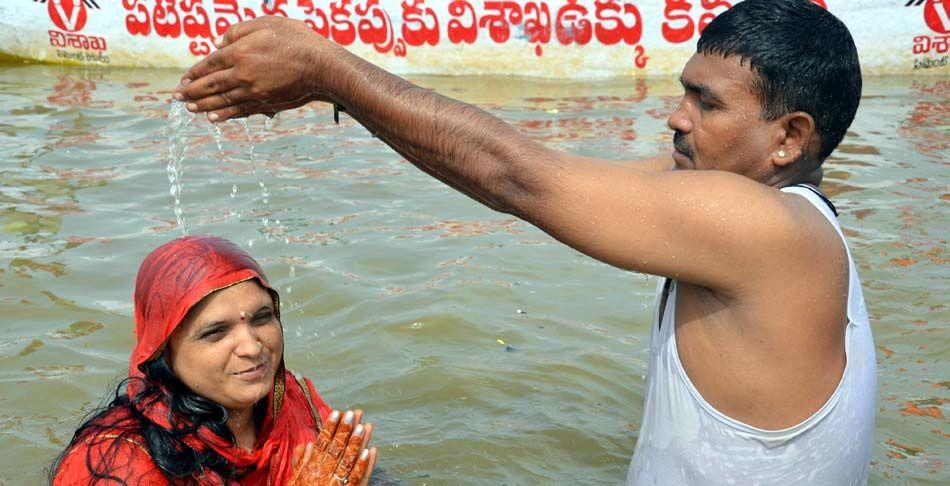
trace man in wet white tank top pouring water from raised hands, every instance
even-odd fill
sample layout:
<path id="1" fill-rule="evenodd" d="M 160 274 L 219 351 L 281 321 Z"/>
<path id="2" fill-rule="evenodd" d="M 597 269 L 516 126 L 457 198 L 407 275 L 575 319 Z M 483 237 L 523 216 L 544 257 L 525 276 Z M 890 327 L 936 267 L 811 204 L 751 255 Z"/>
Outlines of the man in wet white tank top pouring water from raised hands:
<path id="1" fill-rule="evenodd" d="M 334 103 L 423 171 L 616 267 L 667 277 L 629 484 L 867 481 L 875 360 L 821 164 L 857 110 L 847 28 L 747 0 L 703 31 L 675 151 L 559 153 L 299 22 L 232 27 L 176 90 L 211 121 Z M 674 170 L 675 169 L 675 170 Z"/>

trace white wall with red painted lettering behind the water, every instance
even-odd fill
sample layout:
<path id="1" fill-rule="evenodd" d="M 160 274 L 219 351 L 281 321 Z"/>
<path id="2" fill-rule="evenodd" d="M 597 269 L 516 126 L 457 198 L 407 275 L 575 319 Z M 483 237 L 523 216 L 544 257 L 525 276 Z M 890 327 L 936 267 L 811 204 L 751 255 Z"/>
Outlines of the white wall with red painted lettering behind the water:
<path id="1" fill-rule="evenodd" d="M 950 72 L 950 0 L 814 0 L 851 29 L 865 74 Z M 676 75 L 725 0 L 4 0 L 0 56 L 185 68 L 228 26 L 306 21 L 402 74 Z"/>

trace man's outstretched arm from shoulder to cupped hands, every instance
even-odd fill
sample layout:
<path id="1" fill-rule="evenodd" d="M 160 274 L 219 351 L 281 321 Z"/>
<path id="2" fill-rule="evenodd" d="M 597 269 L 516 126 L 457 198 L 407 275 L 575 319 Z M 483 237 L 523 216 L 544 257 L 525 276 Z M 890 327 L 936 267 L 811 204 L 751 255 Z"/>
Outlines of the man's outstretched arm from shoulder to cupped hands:
<path id="1" fill-rule="evenodd" d="M 303 23 L 231 28 L 179 88 L 214 121 L 319 100 L 342 106 L 420 169 L 598 260 L 737 294 L 807 261 L 787 197 L 721 172 L 656 171 L 548 149 L 474 106 L 350 54 Z M 633 167 L 663 167 L 657 159 Z M 820 232 L 820 230 L 819 230 Z M 761 290 L 761 289 L 759 289 Z"/>

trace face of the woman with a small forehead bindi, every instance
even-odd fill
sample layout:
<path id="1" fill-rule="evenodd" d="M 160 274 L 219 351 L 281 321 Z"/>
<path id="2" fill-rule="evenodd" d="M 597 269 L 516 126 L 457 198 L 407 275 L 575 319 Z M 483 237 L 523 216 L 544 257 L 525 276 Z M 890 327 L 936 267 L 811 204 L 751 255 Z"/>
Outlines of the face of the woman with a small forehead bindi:
<path id="1" fill-rule="evenodd" d="M 284 338 L 270 294 L 247 280 L 192 307 L 168 350 L 172 371 L 193 392 L 245 410 L 274 389 Z"/>

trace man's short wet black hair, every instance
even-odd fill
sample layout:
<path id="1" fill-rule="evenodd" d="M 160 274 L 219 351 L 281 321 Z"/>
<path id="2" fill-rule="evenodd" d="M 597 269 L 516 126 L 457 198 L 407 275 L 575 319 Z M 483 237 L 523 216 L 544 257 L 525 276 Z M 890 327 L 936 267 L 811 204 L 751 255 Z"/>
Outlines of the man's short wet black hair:
<path id="1" fill-rule="evenodd" d="M 819 160 L 841 143 L 861 100 L 861 66 L 844 23 L 809 0 L 745 0 L 703 30 L 696 51 L 748 62 L 762 118 L 803 111 L 821 136 Z"/>

